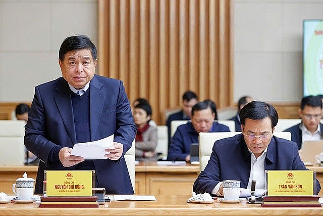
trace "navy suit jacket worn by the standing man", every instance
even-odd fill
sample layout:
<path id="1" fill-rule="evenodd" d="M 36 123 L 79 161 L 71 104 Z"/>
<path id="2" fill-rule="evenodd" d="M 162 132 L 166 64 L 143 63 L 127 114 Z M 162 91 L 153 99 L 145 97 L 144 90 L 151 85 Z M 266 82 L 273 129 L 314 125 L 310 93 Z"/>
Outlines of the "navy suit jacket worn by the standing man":
<path id="1" fill-rule="evenodd" d="M 112 134 L 114 141 L 123 144 L 123 155 L 131 147 L 136 134 L 129 100 L 122 81 L 94 75 L 90 81 L 90 139 L 95 141 Z M 26 124 L 25 146 L 41 159 L 35 194 L 42 194 L 44 170 L 76 169 L 64 167 L 58 151 L 73 148 L 76 132 L 70 88 L 60 77 L 38 85 Z M 107 194 L 133 194 L 124 157 L 118 161 L 93 160 L 96 187 L 105 188 Z"/>

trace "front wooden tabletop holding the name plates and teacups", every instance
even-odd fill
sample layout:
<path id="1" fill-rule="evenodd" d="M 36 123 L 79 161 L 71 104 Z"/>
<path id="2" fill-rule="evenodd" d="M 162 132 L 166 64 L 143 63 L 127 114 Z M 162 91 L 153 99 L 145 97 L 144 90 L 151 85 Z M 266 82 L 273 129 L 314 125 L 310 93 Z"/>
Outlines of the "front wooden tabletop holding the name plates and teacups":
<path id="1" fill-rule="evenodd" d="M 111 201 L 98 208 L 39 208 L 37 203 L 0 204 L 0 215 L 322 215 L 323 208 L 263 208 L 260 204 L 186 203 L 189 195 L 155 195 L 157 201 Z"/>

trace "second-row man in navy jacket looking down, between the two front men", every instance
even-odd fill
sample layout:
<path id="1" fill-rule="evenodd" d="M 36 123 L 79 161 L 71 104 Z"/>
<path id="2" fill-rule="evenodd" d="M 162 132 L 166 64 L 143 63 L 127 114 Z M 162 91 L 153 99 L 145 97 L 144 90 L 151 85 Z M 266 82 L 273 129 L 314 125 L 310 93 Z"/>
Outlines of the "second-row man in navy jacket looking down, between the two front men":
<path id="1" fill-rule="evenodd" d="M 200 132 L 230 132 L 228 126 L 214 122 L 215 113 L 211 102 L 199 102 L 192 108 L 192 122 L 178 126 L 171 146 L 168 150 L 168 160 L 190 161 L 190 147 L 198 143 Z"/>

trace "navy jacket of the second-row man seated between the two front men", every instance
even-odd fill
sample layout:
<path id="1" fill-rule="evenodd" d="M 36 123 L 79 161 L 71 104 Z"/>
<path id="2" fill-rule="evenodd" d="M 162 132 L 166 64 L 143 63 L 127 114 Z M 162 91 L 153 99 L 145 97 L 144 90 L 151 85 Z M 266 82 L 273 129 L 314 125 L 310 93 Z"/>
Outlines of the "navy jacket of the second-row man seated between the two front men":
<path id="1" fill-rule="evenodd" d="M 214 122 L 211 132 L 230 132 L 228 126 Z M 168 160 L 185 160 L 190 154 L 192 143 L 198 143 L 198 134 L 195 131 L 192 122 L 187 122 L 177 127 L 172 138 L 170 149 L 168 150 Z"/>

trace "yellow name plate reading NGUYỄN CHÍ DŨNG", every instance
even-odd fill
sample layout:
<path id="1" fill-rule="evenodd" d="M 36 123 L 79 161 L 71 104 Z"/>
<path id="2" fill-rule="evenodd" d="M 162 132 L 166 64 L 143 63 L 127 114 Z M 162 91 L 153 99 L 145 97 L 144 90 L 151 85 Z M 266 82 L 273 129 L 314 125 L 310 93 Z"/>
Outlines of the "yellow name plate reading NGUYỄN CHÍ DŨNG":
<path id="1" fill-rule="evenodd" d="M 95 170 L 45 170 L 44 196 L 92 196 Z"/>

